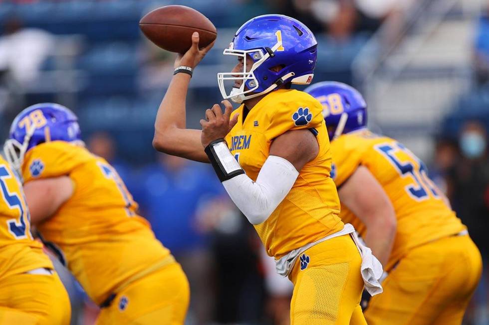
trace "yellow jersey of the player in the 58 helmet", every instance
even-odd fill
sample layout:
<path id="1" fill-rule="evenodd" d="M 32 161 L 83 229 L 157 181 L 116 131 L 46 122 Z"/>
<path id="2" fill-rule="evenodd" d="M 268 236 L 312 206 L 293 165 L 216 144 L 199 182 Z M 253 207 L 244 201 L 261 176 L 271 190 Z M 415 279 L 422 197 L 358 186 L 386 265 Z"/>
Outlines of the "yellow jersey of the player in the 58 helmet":
<path id="1" fill-rule="evenodd" d="M 428 178 L 424 163 L 403 144 L 362 129 L 333 140 L 331 150 L 332 177 L 338 188 L 358 166 L 365 166 L 394 207 L 397 232 L 386 270 L 390 270 L 411 248 L 466 229 Z M 344 205 L 340 217 L 343 222 L 353 224 L 361 235 L 368 231 Z"/>

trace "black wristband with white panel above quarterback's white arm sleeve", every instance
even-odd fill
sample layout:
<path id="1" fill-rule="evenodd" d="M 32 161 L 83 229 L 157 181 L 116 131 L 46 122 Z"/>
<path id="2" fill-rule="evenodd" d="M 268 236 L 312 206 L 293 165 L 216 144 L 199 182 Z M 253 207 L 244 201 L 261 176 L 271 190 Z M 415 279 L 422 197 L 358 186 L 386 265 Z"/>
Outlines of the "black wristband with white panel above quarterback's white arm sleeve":
<path id="1" fill-rule="evenodd" d="M 224 139 L 217 139 L 209 143 L 205 148 L 205 152 L 221 182 L 245 174 L 240 163 L 236 160 L 231 151 L 229 151 L 228 145 Z"/>

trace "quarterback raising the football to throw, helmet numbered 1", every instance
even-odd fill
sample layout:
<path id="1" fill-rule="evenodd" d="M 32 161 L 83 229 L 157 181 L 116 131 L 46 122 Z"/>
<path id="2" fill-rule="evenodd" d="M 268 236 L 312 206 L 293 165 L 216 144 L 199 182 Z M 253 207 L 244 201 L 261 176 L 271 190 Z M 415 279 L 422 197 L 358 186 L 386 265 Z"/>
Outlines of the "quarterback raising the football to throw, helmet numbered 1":
<path id="1" fill-rule="evenodd" d="M 198 33 L 192 42 L 175 62 L 153 145 L 212 163 L 268 255 L 275 257 L 278 272 L 294 284 L 292 324 L 366 324 L 359 305 L 362 257 L 351 236 L 353 227 L 338 217 L 322 107 L 308 94 L 290 89 L 312 79 L 314 35 L 283 15 L 247 21 L 224 51 L 238 64 L 232 72 L 218 74 L 226 110 L 219 105 L 207 109 L 202 131 L 186 129 L 185 100 L 193 69 L 213 44 L 199 50 Z M 234 83 L 231 94 L 227 80 Z M 226 99 L 243 105 L 231 114 Z M 368 251 L 361 250 L 365 264 L 371 263 L 363 267 L 365 278 L 370 277 L 369 290 L 378 293 L 382 270 Z"/>

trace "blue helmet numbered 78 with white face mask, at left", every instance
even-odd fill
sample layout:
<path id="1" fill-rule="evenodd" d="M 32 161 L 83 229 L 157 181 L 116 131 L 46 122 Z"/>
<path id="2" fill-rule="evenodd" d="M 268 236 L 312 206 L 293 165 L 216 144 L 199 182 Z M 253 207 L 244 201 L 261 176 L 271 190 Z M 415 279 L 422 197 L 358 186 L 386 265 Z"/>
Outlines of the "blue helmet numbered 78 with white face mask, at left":
<path id="1" fill-rule="evenodd" d="M 78 118 L 64 106 L 36 104 L 25 108 L 15 117 L 3 152 L 10 165 L 19 171 L 29 149 L 56 140 L 81 142 Z"/>

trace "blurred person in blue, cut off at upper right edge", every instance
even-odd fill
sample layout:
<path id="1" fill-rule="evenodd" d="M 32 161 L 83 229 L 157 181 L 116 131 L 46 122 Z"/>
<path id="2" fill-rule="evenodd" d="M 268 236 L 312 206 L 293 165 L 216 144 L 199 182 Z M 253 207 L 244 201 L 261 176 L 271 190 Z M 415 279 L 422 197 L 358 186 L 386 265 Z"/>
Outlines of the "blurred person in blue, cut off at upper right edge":
<path id="1" fill-rule="evenodd" d="M 489 6 L 479 18 L 474 48 L 474 70 L 479 85 L 489 81 Z"/>

